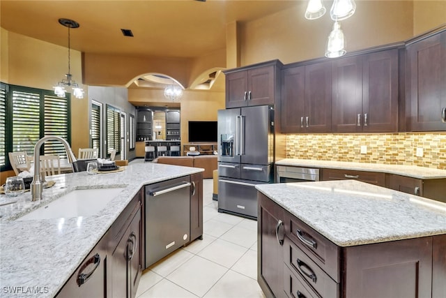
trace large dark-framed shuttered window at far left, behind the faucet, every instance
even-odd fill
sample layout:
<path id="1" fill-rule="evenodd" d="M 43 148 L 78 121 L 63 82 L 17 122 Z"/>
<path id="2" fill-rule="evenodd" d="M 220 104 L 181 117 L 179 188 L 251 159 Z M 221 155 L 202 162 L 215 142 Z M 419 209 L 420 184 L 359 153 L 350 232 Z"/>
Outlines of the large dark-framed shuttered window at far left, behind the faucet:
<path id="1" fill-rule="evenodd" d="M 0 91 L 0 166 L 10 168 L 8 152 L 26 151 L 33 155 L 34 145 L 46 135 L 63 137 L 70 143 L 70 94 L 60 98 L 52 90 L 1 84 Z M 45 142 L 43 154 L 66 158 L 63 144 Z"/>

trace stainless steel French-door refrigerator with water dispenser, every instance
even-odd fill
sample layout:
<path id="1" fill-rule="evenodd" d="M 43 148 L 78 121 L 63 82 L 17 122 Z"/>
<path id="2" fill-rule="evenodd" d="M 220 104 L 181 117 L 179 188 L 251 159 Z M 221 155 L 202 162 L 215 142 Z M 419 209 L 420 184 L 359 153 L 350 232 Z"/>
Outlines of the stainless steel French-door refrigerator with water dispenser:
<path id="1" fill-rule="evenodd" d="M 273 181 L 274 110 L 218 111 L 218 211 L 257 218 L 256 184 Z"/>

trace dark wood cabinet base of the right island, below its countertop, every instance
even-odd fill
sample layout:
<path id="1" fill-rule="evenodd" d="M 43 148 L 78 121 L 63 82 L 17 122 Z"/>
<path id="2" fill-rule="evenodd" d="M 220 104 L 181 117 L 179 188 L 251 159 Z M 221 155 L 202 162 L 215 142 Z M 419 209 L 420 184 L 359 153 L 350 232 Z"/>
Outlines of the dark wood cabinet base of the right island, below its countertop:
<path id="1" fill-rule="evenodd" d="M 436 298 L 446 292 L 446 235 L 340 247 L 261 193 L 258 226 L 258 281 L 266 297 Z"/>

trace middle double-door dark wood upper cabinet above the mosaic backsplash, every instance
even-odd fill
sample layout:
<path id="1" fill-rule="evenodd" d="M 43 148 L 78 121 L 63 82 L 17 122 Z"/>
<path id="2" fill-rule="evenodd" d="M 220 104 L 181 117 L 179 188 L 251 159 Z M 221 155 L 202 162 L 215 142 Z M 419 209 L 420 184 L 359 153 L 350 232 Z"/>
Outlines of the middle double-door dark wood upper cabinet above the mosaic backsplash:
<path id="1" fill-rule="evenodd" d="M 333 62 L 332 131 L 398 131 L 398 50 Z"/>

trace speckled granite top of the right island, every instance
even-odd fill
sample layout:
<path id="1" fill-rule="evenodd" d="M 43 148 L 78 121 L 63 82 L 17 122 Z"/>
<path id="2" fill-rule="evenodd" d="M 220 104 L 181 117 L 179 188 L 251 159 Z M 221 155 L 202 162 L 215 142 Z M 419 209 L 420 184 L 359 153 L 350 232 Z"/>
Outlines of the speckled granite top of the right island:
<path id="1" fill-rule="evenodd" d="M 256 188 L 338 246 L 446 233 L 446 204 L 355 180 Z"/>

